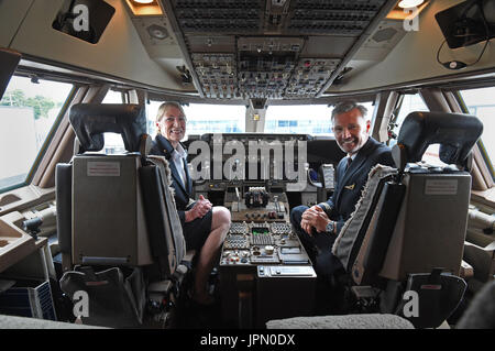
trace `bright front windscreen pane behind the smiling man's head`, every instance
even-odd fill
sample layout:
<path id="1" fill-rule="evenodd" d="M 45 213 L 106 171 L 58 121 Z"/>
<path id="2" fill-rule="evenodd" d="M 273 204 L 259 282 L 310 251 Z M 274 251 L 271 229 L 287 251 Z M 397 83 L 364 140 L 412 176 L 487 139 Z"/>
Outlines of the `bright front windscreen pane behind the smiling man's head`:
<path id="1" fill-rule="evenodd" d="M 366 118 L 374 111 L 372 102 L 362 103 L 367 109 Z M 327 105 L 268 106 L 265 116 L 265 133 L 292 133 L 333 135 L 333 107 Z"/>

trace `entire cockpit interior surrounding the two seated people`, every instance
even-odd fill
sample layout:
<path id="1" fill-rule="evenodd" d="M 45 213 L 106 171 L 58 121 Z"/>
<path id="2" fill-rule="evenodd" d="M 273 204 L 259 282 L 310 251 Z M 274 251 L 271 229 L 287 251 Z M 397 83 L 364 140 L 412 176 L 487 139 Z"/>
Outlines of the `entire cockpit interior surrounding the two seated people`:
<path id="1" fill-rule="evenodd" d="M 495 0 L 0 1 L 0 328 L 494 329 L 494 37 Z M 169 101 L 230 218 L 208 306 Z M 295 209 L 351 193 L 327 276 Z"/>

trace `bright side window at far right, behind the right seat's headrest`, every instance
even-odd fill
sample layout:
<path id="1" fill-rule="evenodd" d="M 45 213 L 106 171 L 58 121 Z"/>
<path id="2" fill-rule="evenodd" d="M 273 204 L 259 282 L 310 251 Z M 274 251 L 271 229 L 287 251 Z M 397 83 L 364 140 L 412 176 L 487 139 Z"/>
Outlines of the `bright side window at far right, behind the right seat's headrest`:
<path id="1" fill-rule="evenodd" d="M 461 97 L 468 107 L 470 114 L 476 116 L 483 122 L 483 134 L 481 140 L 486 154 L 495 167 L 495 141 L 490 136 L 495 129 L 495 87 L 462 90 Z"/>

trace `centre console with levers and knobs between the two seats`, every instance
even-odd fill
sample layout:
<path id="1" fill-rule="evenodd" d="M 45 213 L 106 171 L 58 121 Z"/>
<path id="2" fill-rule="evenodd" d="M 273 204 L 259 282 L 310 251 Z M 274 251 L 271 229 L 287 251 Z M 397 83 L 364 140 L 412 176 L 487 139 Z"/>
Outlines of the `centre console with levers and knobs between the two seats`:
<path id="1" fill-rule="evenodd" d="M 293 231 L 286 193 L 243 187 L 244 194 L 224 197 L 232 223 L 219 263 L 222 318 L 240 328 L 263 328 L 270 319 L 310 314 L 316 273 Z M 290 294 L 302 303 L 288 303 Z"/>

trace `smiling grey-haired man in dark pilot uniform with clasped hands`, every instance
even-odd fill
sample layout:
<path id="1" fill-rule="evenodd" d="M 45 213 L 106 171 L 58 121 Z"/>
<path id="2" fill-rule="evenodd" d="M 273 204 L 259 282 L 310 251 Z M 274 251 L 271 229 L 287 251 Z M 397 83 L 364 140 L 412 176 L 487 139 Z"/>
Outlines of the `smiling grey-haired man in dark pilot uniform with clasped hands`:
<path id="1" fill-rule="evenodd" d="M 376 164 L 394 166 L 391 149 L 370 136 L 366 108 L 355 101 L 338 103 L 332 111 L 333 133 L 346 153 L 336 174 L 336 190 L 326 202 L 290 211 L 290 222 L 308 252 L 319 276 L 331 277 L 343 268 L 331 253 L 333 242 L 355 205 Z"/>

